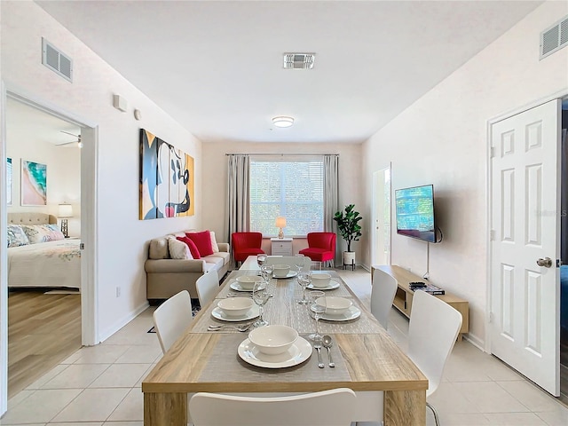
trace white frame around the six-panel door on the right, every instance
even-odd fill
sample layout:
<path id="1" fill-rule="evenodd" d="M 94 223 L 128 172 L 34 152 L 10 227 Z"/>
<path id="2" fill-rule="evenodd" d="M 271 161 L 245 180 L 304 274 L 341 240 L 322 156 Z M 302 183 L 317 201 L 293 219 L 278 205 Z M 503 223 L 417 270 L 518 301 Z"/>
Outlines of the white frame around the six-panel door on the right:
<path id="1" fill-rule="evenodd" d="M 492 307 L 492 281 L 491 281 L 491 271 L 492 271 L 492 249 L 491 249 L 491 214 L 492 214 L 492 209 L 493 209 L 493 203 L 491 200 L 491 197 L 489 196 L 491 194 L 492 191 L 492 183 L 493 183 L 493 176 L 492 176 L 492 170 L 491 170 L 491 158 L 492 158 L 492 151 L 491 151 L 491 146 L 492 146 L 492 126 L 494 123 L 496 122 L 501 122 L 502 120 L 505 120 L 507 118 L 512 117 L 513 115 L 517 115 L 517 114 L 521 114 L 524 113 L 525 111 L 528 111 L 529 109 L 532 109 L 536 106 L 540 106 L 542 104 L 545 104 L 551 100 L 554 99 L 563 99 L 566 96 L 568 96 L 568 90 L 564 89 L 562 91 L 557 91 L 555 93 L 552 93 L 548 96 L 545 96 L 543 98 L 540 99 L 536 99 L 533 100 L 532 102 L 529 102 L 528 104 L 525 104 L 524 106 L 517 106 L 516 108 L 513 108 L 511 110 L 509 110 L 509 112 L 497 115 L 489 120 L 487 120 L 487 127 L 486 127 L 486 146 L 485 146 L 485 150 L 486 150 L 486 156 L 485 156 L 485 176 L 486 176 L 486 180 L 485 180 L 485 194 L 486 194 L 486 199 L 487 199 L 487 211 L 485 212 L 485 224 L 486 225 L 486 239 L 485 239 L 485 248 L 486 248 L 486 252 L 487 252 L 487 258 L 485 259 L 485 277 L 486 277 L 486 286 L 485 286 L 485 292 L 487 297 L 485 298 L 485 345 L 484 345 L 484 351 L 487 353 L 492 353 L 491 351 L 491 321 L 493 320 L 492 316 L 493 316 L 493 312 L 491 312 L 491 307 Z M 558 282 L 556 282 L 556 285 L 560 285 Z M 560 324 L 557 323 L 556 327 L 560 327 Z"/>

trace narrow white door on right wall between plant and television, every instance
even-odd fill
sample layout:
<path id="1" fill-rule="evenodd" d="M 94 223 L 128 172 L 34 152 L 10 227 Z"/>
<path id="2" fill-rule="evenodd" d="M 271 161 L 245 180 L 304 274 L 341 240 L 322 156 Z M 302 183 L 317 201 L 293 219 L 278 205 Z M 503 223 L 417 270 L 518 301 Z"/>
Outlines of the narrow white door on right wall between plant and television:
<path id="1" fill-rule="evenodd" d="M 371 264 L 390 264 L 390 167 L 373 173 Z"/>

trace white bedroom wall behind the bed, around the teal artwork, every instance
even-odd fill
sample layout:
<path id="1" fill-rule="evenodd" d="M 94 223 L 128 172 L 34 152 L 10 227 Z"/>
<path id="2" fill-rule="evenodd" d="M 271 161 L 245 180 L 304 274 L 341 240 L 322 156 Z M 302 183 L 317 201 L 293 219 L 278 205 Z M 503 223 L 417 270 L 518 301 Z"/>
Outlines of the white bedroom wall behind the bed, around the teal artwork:
<path id="1" fill-rule="evenodd" d="M 12 103 L 6 106 L 11 113 Z M 58 204 L 73 206 L 68 219 L 69 236 L 81 235 L 81 150 L 54 146 L 39 140 L 31 127 L 6 126 L 6 156 L 12 158 L 12 205 L 8 212 L 32 211 L 58 215 Z M 47 205 L 22 206 L 20 192 L 21 160 L 47 166 Z M 60 221 L 58 222 L 60 224 Z"/>

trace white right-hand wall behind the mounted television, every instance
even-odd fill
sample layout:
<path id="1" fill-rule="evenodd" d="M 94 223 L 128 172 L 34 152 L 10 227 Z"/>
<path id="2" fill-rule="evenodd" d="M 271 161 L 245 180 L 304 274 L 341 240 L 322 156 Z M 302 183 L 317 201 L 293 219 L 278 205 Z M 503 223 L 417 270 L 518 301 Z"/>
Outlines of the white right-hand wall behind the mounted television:
<path id="1" fill-rule="evenodd" d="M 547 2 L 367 140 L 365 214 L 372 174 L 392 162 L 392 188 L 434 184 L 444 233 L 430 245 L 430 280 L 469 301 L 469 337 L 485 343 L 487 122 L 559 91 L 568 93 L 568 48 L 539 61 L 540 32 L 568 13 Z M 392 237 L 392 264 L 426 272 L 426 243 Z M 368 257 L 367 257 L 368 259 Z"/>

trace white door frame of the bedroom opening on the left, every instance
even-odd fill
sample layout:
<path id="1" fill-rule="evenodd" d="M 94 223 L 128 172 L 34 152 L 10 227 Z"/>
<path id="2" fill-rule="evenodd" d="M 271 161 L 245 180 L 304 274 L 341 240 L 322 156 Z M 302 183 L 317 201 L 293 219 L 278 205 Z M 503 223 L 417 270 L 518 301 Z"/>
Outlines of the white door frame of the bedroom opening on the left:
<path id="1" fill-rule="evenodd" d="M 73 114 L 46 99 L 0 81 L 0 177 L 6 177 L 6 99 L 16 99 L 47 114 L 72 122 L 82 128 L 81 153 L 81 324 L 82 344 L 99 343 L 99 310 L 97 280 L 98 228 L 98 164 L 99 128 L 95 122 Z M 0 185 L 0 229 L 7 226 L 6 188 Z M 7 410 L 8 395 L 8 274 L 7 235 L 0 233 L 0 415 Z"/>

